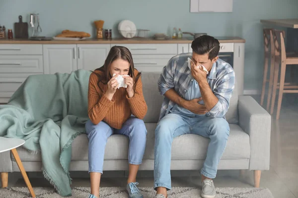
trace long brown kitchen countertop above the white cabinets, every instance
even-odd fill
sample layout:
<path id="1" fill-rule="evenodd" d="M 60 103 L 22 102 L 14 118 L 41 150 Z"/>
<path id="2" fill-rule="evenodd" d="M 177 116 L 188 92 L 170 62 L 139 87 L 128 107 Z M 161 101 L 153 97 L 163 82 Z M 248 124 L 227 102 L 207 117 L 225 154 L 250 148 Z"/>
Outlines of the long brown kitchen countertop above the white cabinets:
<path id="1" fill-rule="evenodd" d="M 240 37 L 216 37 L 220 43 L 245 43 L 245 40 Z M 191 44 L 192 37 L 182 39 L 169 39 L 169 40 L 155 40 L 152 38 L 115 38 L 107 39 L 86 39 L 81 41 L 31 41 L 28 39 L 13 39 L 3 40 L 0 39 L 0 44 Z"/>

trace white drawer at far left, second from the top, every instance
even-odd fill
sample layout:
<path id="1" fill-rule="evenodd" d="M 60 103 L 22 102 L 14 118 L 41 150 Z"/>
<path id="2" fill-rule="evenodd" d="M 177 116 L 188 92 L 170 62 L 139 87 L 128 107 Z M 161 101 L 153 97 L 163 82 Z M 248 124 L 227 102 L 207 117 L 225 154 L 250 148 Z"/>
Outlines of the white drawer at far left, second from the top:
<path id="1" fill-rule="evenodd" d="M 1 73 L 43 73 L 42 55 L 0 55 Z"/>

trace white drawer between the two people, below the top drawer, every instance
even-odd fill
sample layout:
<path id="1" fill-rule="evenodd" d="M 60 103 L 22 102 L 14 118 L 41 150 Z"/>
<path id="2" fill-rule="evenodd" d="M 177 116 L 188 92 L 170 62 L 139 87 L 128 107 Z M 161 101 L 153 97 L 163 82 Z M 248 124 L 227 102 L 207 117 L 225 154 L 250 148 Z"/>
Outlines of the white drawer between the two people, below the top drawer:
<path id="1" fill-rule="evenodd" d="M 133 55 L 135 68 L 141 72 L 161 72 L 172 55 Z"/>

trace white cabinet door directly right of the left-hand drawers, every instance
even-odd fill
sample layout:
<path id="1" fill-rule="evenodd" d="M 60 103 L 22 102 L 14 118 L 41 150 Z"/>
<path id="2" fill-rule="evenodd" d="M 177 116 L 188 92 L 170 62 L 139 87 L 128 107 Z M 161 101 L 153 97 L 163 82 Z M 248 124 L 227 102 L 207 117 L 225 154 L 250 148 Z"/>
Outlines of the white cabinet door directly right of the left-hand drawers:
<path id="1" fill-rule="evenodd" d="M 71 73 L 77 69 L 76 45 L 43 45 L 44 73 Z"/>

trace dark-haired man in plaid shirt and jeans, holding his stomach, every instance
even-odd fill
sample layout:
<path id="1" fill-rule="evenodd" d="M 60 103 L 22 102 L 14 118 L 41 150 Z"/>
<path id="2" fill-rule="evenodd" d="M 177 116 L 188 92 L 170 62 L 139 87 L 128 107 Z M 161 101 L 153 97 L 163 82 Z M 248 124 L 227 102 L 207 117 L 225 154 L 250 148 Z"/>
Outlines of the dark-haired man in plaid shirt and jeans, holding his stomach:
<path id="1" fill-rule="evenodd" d="M 155 130 L 155 198 L 166 198 L 171 189 L 171 144 L 183 134 L 210 138 L 201 170 L 202 197 L 216 196 L 212 179 L 229 136 L 224 115 L 234 89 L 235 73 L 219 59 L 220 43 L 214 37 L 201 36 L 192 42 L 191 48 L 193 53 L 172 57 L 158 80 L 159 92 L 165 98 Z"/>

